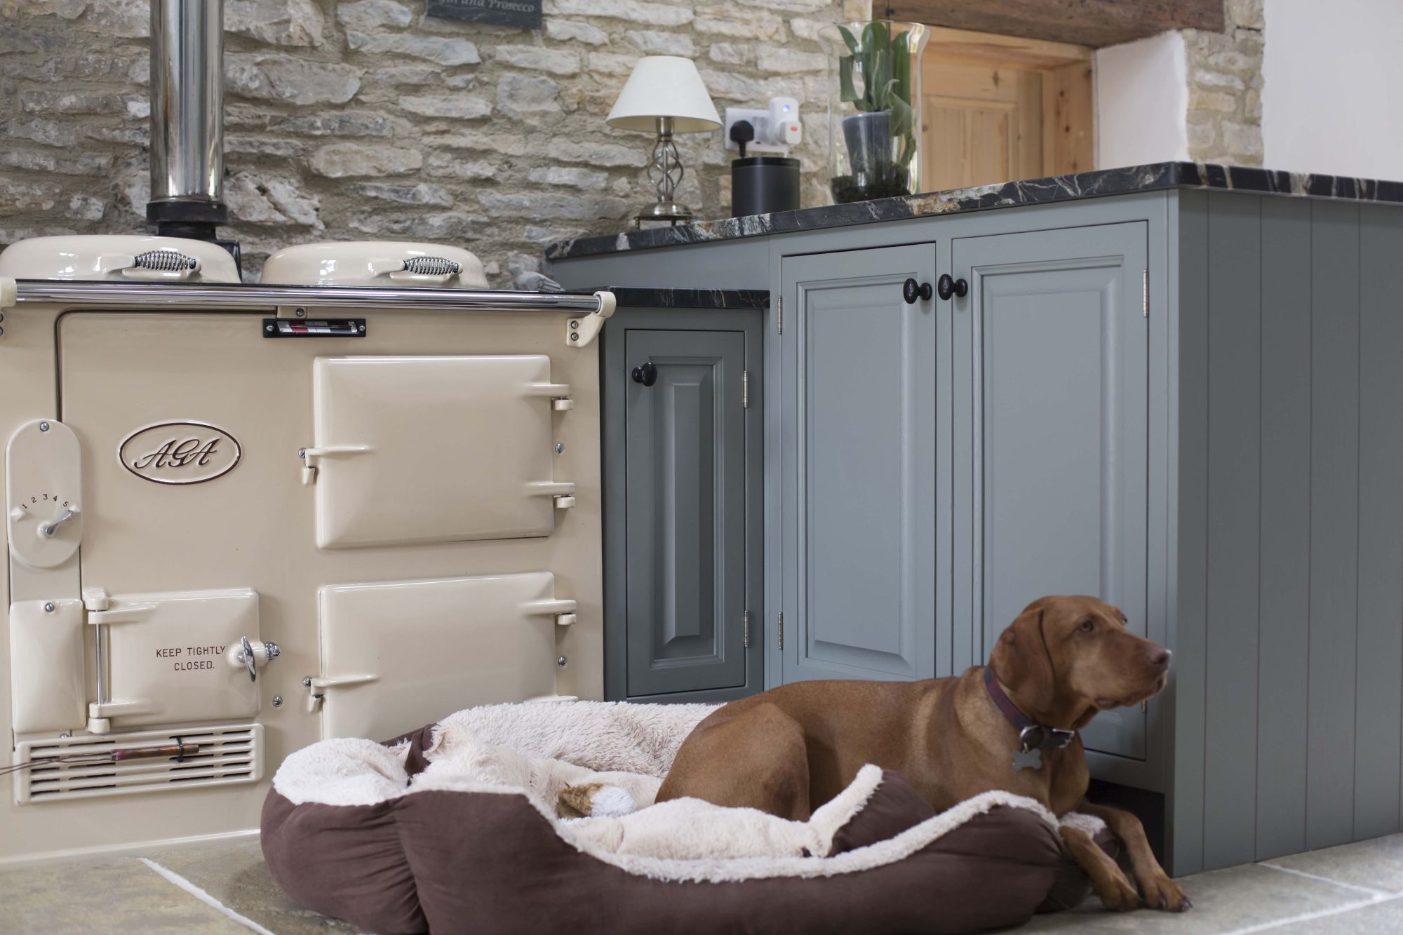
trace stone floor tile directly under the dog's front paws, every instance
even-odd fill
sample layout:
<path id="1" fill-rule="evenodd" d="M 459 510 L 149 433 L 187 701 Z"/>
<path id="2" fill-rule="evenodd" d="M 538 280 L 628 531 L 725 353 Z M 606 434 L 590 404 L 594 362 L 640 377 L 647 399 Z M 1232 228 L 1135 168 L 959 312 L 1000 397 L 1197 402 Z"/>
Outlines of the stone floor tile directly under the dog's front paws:
<path id="1" fill-rule="evenodd" d="M 1357 904 L 1369 897 L 1323 880 L 1246 865 L 1181 879 L 1194 901 L 1183 914 L 1136 910 L 1107 913 L 1092 897 L 1066 913 L 1035 917 L 1019 932 L 1076 932 L 1078 935 L 1221 935 L 1251 925 L 1289 920 Z"/>

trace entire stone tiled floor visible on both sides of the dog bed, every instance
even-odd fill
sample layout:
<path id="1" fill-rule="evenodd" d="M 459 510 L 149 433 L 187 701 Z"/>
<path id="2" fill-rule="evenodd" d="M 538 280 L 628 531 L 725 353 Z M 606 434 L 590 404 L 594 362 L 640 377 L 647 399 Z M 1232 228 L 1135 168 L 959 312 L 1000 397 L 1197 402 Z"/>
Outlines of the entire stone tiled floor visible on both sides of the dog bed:
<path id="1" fill-rule="evenodd" d="M 257 840 L 152 851 L 147 859 L 274 935 L 352 935 L 355 927 L 300 908 L 272 882 Z M 1389 935 L 1403 931 L 1403 835 L 1200 873 L 1181 880 L 1183 915 L 1107 913 L 1094 898 L 1040 915 L 1019 932 L 1078 935 Z M 1294 870 L 1294 872 L 1292 872 Z M 0 872 L 0 929 L 201 932 L 248 929 L 129 856 L 90 858 Z"/>

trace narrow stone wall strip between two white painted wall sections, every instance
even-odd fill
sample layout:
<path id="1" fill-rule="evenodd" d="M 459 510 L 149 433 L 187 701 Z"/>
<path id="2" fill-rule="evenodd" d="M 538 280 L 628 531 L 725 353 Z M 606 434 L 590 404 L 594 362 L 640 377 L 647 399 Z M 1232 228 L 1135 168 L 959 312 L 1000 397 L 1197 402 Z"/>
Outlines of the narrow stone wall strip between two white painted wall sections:
<path id="1" fill-rule="evenodd" d="M 1263 0 L 1226 0 L 1225 32 L 1184 31 L 1188 156 L 1260 166 Z"/>

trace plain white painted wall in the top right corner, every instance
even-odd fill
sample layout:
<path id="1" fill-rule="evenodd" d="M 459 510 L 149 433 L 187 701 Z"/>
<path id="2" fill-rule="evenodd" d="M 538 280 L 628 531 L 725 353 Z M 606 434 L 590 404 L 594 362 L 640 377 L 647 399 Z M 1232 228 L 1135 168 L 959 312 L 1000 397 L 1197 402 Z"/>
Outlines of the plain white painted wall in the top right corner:
<path id="1" fill-rule="evenodd" d="M 1403 180 L 1403 3 L 1266 0 L 1268 168 Z"/>

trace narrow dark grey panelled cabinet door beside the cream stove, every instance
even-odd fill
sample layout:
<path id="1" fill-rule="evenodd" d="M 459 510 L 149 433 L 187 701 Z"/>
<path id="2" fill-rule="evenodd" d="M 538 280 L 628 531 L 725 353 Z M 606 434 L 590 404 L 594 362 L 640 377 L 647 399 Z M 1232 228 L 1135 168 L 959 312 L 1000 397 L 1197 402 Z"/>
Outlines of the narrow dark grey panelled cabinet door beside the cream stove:
<path id="1" fill-rule="evenodd" d="M 744 331 L 630 330 L 629 696 L 745 685 Z"/>

